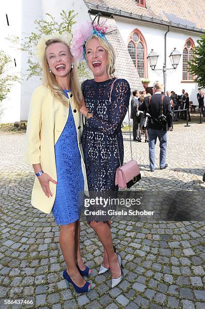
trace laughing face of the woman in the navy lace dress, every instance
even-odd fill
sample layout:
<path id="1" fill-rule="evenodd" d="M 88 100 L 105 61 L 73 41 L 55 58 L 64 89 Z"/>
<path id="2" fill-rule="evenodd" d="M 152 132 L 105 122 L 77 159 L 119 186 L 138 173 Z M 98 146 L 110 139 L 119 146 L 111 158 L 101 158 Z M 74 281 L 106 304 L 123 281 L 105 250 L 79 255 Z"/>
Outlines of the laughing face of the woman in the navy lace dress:
<path id="1" fill-rule="evenodd" d="M 108 53 L 106 49 L 101 46 L 97 38 L 92 38 L 87 41 L 86 60 L 88 67 L 94 75 L 94 78 L 109 78 L 109 75 L 106 71 L 106 67 L 108 64 Z"/>

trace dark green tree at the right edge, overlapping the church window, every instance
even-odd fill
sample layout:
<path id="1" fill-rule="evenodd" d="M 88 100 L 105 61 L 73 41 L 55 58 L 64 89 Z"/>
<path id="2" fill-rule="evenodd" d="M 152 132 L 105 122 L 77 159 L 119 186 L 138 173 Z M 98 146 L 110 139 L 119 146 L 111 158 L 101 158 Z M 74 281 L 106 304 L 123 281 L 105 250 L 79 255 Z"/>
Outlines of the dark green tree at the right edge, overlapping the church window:
<path id="1" fill-rule="evenodd" d="M 188 62 L 188 70 L 195 75 L 195 82 L 200 87 L 205 88 L 205 34 L 197 40 L 197 45 L 194 47 L 194 56 L 191 62 Z"/>

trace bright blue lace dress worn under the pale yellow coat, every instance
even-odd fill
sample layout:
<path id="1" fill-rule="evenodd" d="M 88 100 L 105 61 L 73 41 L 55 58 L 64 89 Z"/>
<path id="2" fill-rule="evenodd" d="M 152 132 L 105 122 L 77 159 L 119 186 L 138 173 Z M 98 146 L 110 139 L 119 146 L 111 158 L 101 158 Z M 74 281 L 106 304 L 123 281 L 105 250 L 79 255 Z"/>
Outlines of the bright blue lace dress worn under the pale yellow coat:
<path id="1" fill-rule="evenodd" d="M 64 90 L 68 97 L 67 92 Z M 53 215 L 57 224 L 66 225 L 79 219 L 84 192 L 81 156 L 70 106 L 66 125 L 55 145 L 55 155 L 58 184 Z"/>

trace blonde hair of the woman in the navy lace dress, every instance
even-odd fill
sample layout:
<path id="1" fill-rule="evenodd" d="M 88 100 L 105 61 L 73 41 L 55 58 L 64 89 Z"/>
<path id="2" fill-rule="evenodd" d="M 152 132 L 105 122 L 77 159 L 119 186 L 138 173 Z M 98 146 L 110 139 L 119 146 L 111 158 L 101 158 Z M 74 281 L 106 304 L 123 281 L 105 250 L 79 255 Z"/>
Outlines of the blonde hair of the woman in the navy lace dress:
<path id="1" fill-rule="evenodd" d="M 107 39 L 102 39 L 101 37 L 98 37 L 95 34 L 93 34 L 90 39 L 92 38 L 97 38 L 101 46 L 103 46 L 103 48 L 105 48 L 106 52 L 108 53 L 108 63 L 106 66 L 106 72 L 108 76 L 111 78 L 111 75 L 113 75 L 113 73 L 115 72 L 115 61 L 116 61 L 115 49 L 113 48 L 113 45 Z M 87 40 L 87 42 L 89 40 Z M 86 48 L 86 44 L 85 44 L 85 48 Z"/>

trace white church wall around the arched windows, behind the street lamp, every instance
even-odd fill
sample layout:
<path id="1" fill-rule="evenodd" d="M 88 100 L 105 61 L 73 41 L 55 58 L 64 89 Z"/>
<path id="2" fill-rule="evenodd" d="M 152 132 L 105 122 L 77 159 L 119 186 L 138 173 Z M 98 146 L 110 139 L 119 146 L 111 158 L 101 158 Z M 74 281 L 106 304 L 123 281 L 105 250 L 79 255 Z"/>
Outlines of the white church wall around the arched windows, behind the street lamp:
<path id="1" fill-rule="evenodd" d="M 164 36 L 168 28 L 154 24 L 142 23 L 140 21 L 129 21 L 128 19 L 119 17 L 115 17 L 115 20 L 126 45 L 131 32 L 135 28 L 141 31 L 146 41 L 147 55 L 151 49 L 158 53 L 160 57 L 158 58 L 156 69 L 162 69 L 164 63 Z M 188 37 L 191 37 L 194 43 L 199 39 L 198 34 L 188 31 L 174 30 L 172 28 L 170 29 L 170 32 L 167 34 L 167 68 L 172 67 L 169 55 L 174 47 L 176 47 L 182 54 L 183 46 Z M 148 66 L 148 79 L 150 80 L 149 86 L 152 86 L 157 81 L 163 83 L 163 73 L 160 71 L 154 72 Z M 190 100 L 193 101 L 193 104 L 198 105 L 196 99 L 197 84 L 194 82 L 182 81 L 182 56 L 177 69 L 167 71 L 167 89 L 174 90 L 177 94 L 181 94 L 181 90 L 185 89 L 189 94 Z"/>

